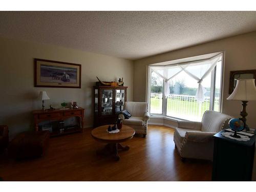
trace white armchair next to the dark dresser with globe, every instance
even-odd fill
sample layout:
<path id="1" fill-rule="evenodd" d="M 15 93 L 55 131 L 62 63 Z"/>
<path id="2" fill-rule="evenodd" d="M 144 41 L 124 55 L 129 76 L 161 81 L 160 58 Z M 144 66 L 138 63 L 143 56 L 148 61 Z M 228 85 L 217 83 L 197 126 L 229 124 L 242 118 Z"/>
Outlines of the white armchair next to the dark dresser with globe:
<path id="1" fill-rule="evenodd" d="M 202 122 L 179 121 L 174 133 L 174 142 L 182 159 L 212 160 L 214 136 L 224 123 L 232 118 L 216 111 L 205 111 Z"/>

